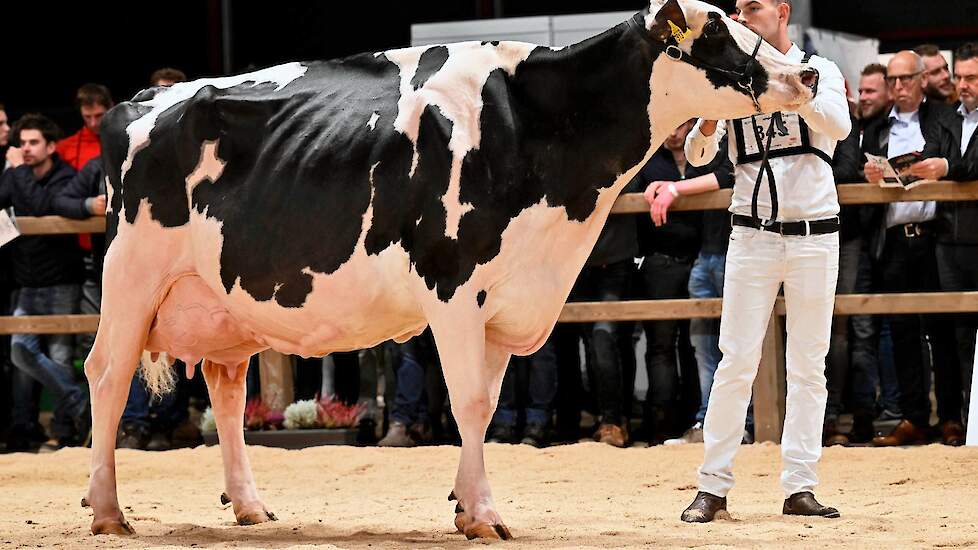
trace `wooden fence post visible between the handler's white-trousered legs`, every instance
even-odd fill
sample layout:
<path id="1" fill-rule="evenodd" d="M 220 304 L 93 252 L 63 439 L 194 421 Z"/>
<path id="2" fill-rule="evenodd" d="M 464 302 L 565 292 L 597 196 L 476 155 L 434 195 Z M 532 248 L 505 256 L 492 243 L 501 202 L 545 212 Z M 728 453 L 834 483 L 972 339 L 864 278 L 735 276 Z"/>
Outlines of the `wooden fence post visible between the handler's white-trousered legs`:
<path id="1" fill-rule="evenodd" d="M 764 335 L 761 364 L 754 379 L 754 439 L 781 442 L 787 386 L 784 370 L 784 318 L 777 312 Z"/>

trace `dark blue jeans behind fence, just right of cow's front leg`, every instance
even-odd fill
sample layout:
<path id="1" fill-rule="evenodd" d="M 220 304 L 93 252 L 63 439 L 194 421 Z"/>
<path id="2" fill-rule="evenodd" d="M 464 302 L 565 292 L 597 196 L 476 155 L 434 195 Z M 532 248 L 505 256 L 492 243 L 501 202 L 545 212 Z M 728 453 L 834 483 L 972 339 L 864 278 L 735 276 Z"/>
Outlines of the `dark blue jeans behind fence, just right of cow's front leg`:
<path id="1" fill-rule="evenodd" d="M 557 354 L 553 335 L 529 357 L 513 357 L 509 361 L 499 393 L 499 404 L 493 414 L 493 424 L 516 426 L 517 386 L 526 388 L 527 425 L 550 424 L 550 411 L 557 394 Z"/>

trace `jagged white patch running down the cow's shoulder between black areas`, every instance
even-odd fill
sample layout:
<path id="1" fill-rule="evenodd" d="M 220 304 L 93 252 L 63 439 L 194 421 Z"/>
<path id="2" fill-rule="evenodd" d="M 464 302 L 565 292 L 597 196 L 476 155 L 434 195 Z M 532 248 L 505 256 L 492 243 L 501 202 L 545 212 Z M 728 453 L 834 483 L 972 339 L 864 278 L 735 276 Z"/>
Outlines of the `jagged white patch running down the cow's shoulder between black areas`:
<path id="1" fill-rule="evenodd" d="M 496 46 L 461 42 L 445 47 L 448 48 L 448 60 L 418 90 L 414 89 L 411 80 L 417 73 L 421 55 L 429 47 L 391 50 L 386 54 L 401 71 L 401 97 L 397 103 L 394 128 L 406 135 L 414 145 L 411 176 L 417 168 L 418 128 L 425 107 L 437 107 L 442 116 L 452 122 L 452 135 L 448 143 L 452 152 L 452 170 L 448 190 L 442 200 L 446 212 L 445 235 L 454 239 L 458 237 L 462 216 L 472 209 L 472 205 L 460 203 L 461 166 L 465 155 L 478 149 L 481 142 L 479 121 L 482 115 L 482 88 L 489 75 L 497 69 L 514 74 L 516 67 L 539 46 L 505 41 Z"/>

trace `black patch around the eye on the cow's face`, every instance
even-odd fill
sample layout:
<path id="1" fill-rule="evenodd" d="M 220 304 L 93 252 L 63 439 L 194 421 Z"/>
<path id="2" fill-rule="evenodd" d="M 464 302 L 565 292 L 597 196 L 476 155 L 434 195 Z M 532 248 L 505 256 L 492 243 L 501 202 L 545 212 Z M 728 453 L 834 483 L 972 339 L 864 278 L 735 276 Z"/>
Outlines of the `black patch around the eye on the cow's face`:
<path id="1" fill-rule="evenodd" d="M 737 71 L 743 71 L 747 67 L 751 53 L 753 53 L 753 50 L 745 53 L 744 50 L 740 49 L 737 41 L 730 34 L 730 30 L 727 29 L 727 24 L 723 21 L 723 18 L 720 14 L 714 12 L 709 14 L 707 22 L 703 25 L 703 32 L 699 38 L 693 41 L 693 45 L 690 48 L 690 54 L 703 63 L 714 67 L 731 68 Z M 767 70 L 758 62 L 752 63 L 751 67 L 751 71 L 747 76 L 750 77 L 754 94 L 757 97 L 761 97 L 762 94 L 767 92 L 769 78 Z M 745 96 L 750 97 L 748 90 L 737 85 L 736 77 L 705 69 L 704 72 L 706 73 L 706 78 L 709 79 L 715 88 L 733 88 Z"/>

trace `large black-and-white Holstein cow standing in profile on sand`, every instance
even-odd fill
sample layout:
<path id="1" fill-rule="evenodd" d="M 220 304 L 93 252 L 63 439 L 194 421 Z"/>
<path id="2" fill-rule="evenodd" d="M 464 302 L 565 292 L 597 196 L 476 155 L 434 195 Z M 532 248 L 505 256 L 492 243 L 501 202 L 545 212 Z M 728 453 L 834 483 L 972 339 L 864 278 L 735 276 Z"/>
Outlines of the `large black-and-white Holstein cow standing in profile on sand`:
<path id="1" fill-rule="evenodd" d="M 483 463 L 503 372 L 547 339 L 625 183 L 690 117 L 797 107 L 816 80 L 708 4 L 653 0 L 567 48 L 391 50 L 120 104 L 102 126 L 111 244 L 85 363 L 92 532 L 132 533 L 114 446 L 141 356 L 202 361 L 226 492 L 251 524 L 275 518 L 242 436 L 249 357 L 430 326 L 463 442 L 456 525 L 509 538 Z"/>

